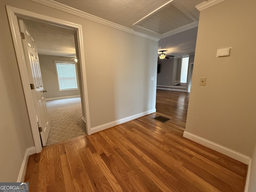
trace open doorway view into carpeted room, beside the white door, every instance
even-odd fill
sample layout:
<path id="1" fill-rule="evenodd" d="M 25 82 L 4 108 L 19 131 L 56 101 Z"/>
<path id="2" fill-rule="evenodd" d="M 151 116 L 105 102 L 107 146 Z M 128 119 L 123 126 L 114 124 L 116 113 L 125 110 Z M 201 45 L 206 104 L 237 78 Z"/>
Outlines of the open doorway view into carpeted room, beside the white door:
<path id="1" fill-rule="evenodd" d="M 34 38 L 43 88 L 47 90 L 44 97 L 50 132 L 42 145 L 50 146 L 86 134 L 78 80 L 81 74 L 78 60 L 74 61 L 76 30 L 24 18 L 22 21 Z"/>

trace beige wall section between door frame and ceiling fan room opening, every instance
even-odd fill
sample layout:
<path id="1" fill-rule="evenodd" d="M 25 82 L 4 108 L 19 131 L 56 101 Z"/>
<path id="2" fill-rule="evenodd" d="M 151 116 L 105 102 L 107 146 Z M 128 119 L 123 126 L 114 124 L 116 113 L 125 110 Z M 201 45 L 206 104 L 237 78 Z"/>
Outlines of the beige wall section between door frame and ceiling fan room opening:
<path id="1" fill-rule="evenodd" d="M 158 42 L 100 24 L 89 28 L 84 43 L 91 126 L 155 109 Z"/>

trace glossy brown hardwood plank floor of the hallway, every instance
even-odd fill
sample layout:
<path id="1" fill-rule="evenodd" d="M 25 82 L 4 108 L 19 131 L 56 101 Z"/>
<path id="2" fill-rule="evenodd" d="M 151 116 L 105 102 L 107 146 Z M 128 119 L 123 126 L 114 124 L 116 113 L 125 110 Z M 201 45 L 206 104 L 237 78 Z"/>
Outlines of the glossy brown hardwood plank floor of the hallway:
<path id="1" fill-rule="evenodd" d="M 168 122 L 154 113 L 49 146 L 30 156 L 25 182 L 31 192 L 242 192 L 245 164 L 182 138 L 187 104 L 160 90 Z"/>

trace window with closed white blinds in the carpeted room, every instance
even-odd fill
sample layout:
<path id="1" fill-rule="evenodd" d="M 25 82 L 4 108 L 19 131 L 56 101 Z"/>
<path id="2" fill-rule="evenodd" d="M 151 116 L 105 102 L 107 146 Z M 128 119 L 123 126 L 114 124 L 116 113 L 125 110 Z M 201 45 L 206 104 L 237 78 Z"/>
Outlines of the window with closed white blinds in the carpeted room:
<path id="1" fill-rule="evenodd" d="M 54 61 L 60 91 L 77 90 L 77 70 L 75 62 Z"/>

